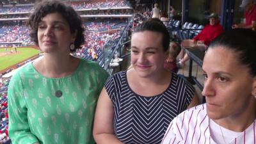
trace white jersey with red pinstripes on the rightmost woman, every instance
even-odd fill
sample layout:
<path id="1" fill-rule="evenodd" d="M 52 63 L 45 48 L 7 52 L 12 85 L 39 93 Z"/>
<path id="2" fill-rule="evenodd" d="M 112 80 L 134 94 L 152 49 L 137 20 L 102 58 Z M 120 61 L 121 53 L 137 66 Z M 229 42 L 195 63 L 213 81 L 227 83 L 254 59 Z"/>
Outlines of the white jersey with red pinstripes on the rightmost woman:
<path id="1" fill-rule="evenodd" d="M 229 144 L 256 144 L 255 120 Z M 209 117 L 205 104 L 188 109 L 170 123 L 162 144 L 216 144 L 209 130 Z M 220 143 L 218 143 L 220 144 Z"/>

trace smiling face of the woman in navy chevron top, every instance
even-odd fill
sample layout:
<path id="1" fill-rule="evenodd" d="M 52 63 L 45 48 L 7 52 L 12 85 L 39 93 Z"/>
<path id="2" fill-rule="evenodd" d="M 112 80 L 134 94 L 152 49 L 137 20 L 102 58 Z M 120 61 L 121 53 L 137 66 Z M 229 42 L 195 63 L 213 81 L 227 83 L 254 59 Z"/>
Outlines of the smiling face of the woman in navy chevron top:
<path id="1" fill-rule="evenodd" d="M 163 35 L 154 31 L 132 35 L 131 65 L 140 77 L 154 77 L 163 72 L 168 51 L 163 51 L 162 40 Z"/>

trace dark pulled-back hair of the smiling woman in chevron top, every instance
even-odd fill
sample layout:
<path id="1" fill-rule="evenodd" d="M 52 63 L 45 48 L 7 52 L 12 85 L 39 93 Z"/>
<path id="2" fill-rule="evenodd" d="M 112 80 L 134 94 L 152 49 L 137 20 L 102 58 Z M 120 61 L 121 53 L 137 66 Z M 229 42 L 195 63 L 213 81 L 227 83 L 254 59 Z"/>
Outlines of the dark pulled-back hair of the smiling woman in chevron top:
<path id="1" fill-rule="evenodd" d="M 157 18 L 152 18 L 152 19 L 148 19 L 144 22 L 142 22 L 142 24 L 140 24 L 139 26 L 137 26 L 133 33 L 137 33 L 137 32 L 142 32 L 142 31 L 154 31 L 154 32 L 158 32 L 161 33 L 163 35 L 163 50 L 167 51 L 169 48 L 169 44 L 170 44 L 170 34 L 166 28 L 166 26 L 164 26 L 163 22 Z"/>

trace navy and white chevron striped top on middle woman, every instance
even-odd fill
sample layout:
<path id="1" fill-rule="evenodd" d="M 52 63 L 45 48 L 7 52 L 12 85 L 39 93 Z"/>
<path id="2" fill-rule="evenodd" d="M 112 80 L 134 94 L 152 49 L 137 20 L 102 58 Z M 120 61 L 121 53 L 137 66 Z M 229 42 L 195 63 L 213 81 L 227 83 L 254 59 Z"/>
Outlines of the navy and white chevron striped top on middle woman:
<path id="1" fill-rule="evenodd" d="M 166 91 L 153 97 L 134 93 L 124 71 L 109 77 L 105 88 L 115 111 L 116 138 L 127 144 L 161 143 L 170 122 L 188 107 L 195 93 L 195 88 L 175 73 Z"/>

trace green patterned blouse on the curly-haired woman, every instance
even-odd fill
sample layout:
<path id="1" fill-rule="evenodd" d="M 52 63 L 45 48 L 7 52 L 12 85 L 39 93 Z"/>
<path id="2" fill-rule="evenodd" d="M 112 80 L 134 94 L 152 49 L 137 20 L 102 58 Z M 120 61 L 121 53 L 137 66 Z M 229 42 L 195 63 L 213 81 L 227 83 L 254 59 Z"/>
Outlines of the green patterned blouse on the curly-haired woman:
<path id="1" fill-rule="evenodd" d="M 75 72 L 61 78 L 42 76 L 32 63 L 21 68 L 8 88 L 12 143 L 95 143 L 93 116 L 108 76 L 88 60 L 80 60 Z"/>

